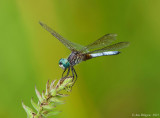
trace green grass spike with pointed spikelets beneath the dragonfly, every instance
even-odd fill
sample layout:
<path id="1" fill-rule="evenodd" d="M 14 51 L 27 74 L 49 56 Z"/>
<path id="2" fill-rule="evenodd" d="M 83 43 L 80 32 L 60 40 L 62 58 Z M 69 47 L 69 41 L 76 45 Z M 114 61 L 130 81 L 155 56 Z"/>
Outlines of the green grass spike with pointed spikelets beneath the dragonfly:
<path id="1" fill-rule="evenodd" d="M 46 84 L 46 92 L 42 91 L 42 95 L 35 87 L 35 92 L 38 97 L 38 104 L 31 99 L 31 104 L 36 109 L 37 113 L 33 112 L 31 108 L 24 105 L 22 106 L 27 113 L 28 118 L 46 118 L 48 116 L 57 115 L 60 111 L 56 110 L 56 106 L 64 104 L 64 101 L 60 100 L 63 97 L 68 96 L 68 94 L 62 94 L 61 90 L 67 91 L 68 88 L 73 86 L 73 77 L 61 78 L 55 85 L 55 80 L 49 84 L 49 80 Z"/>

